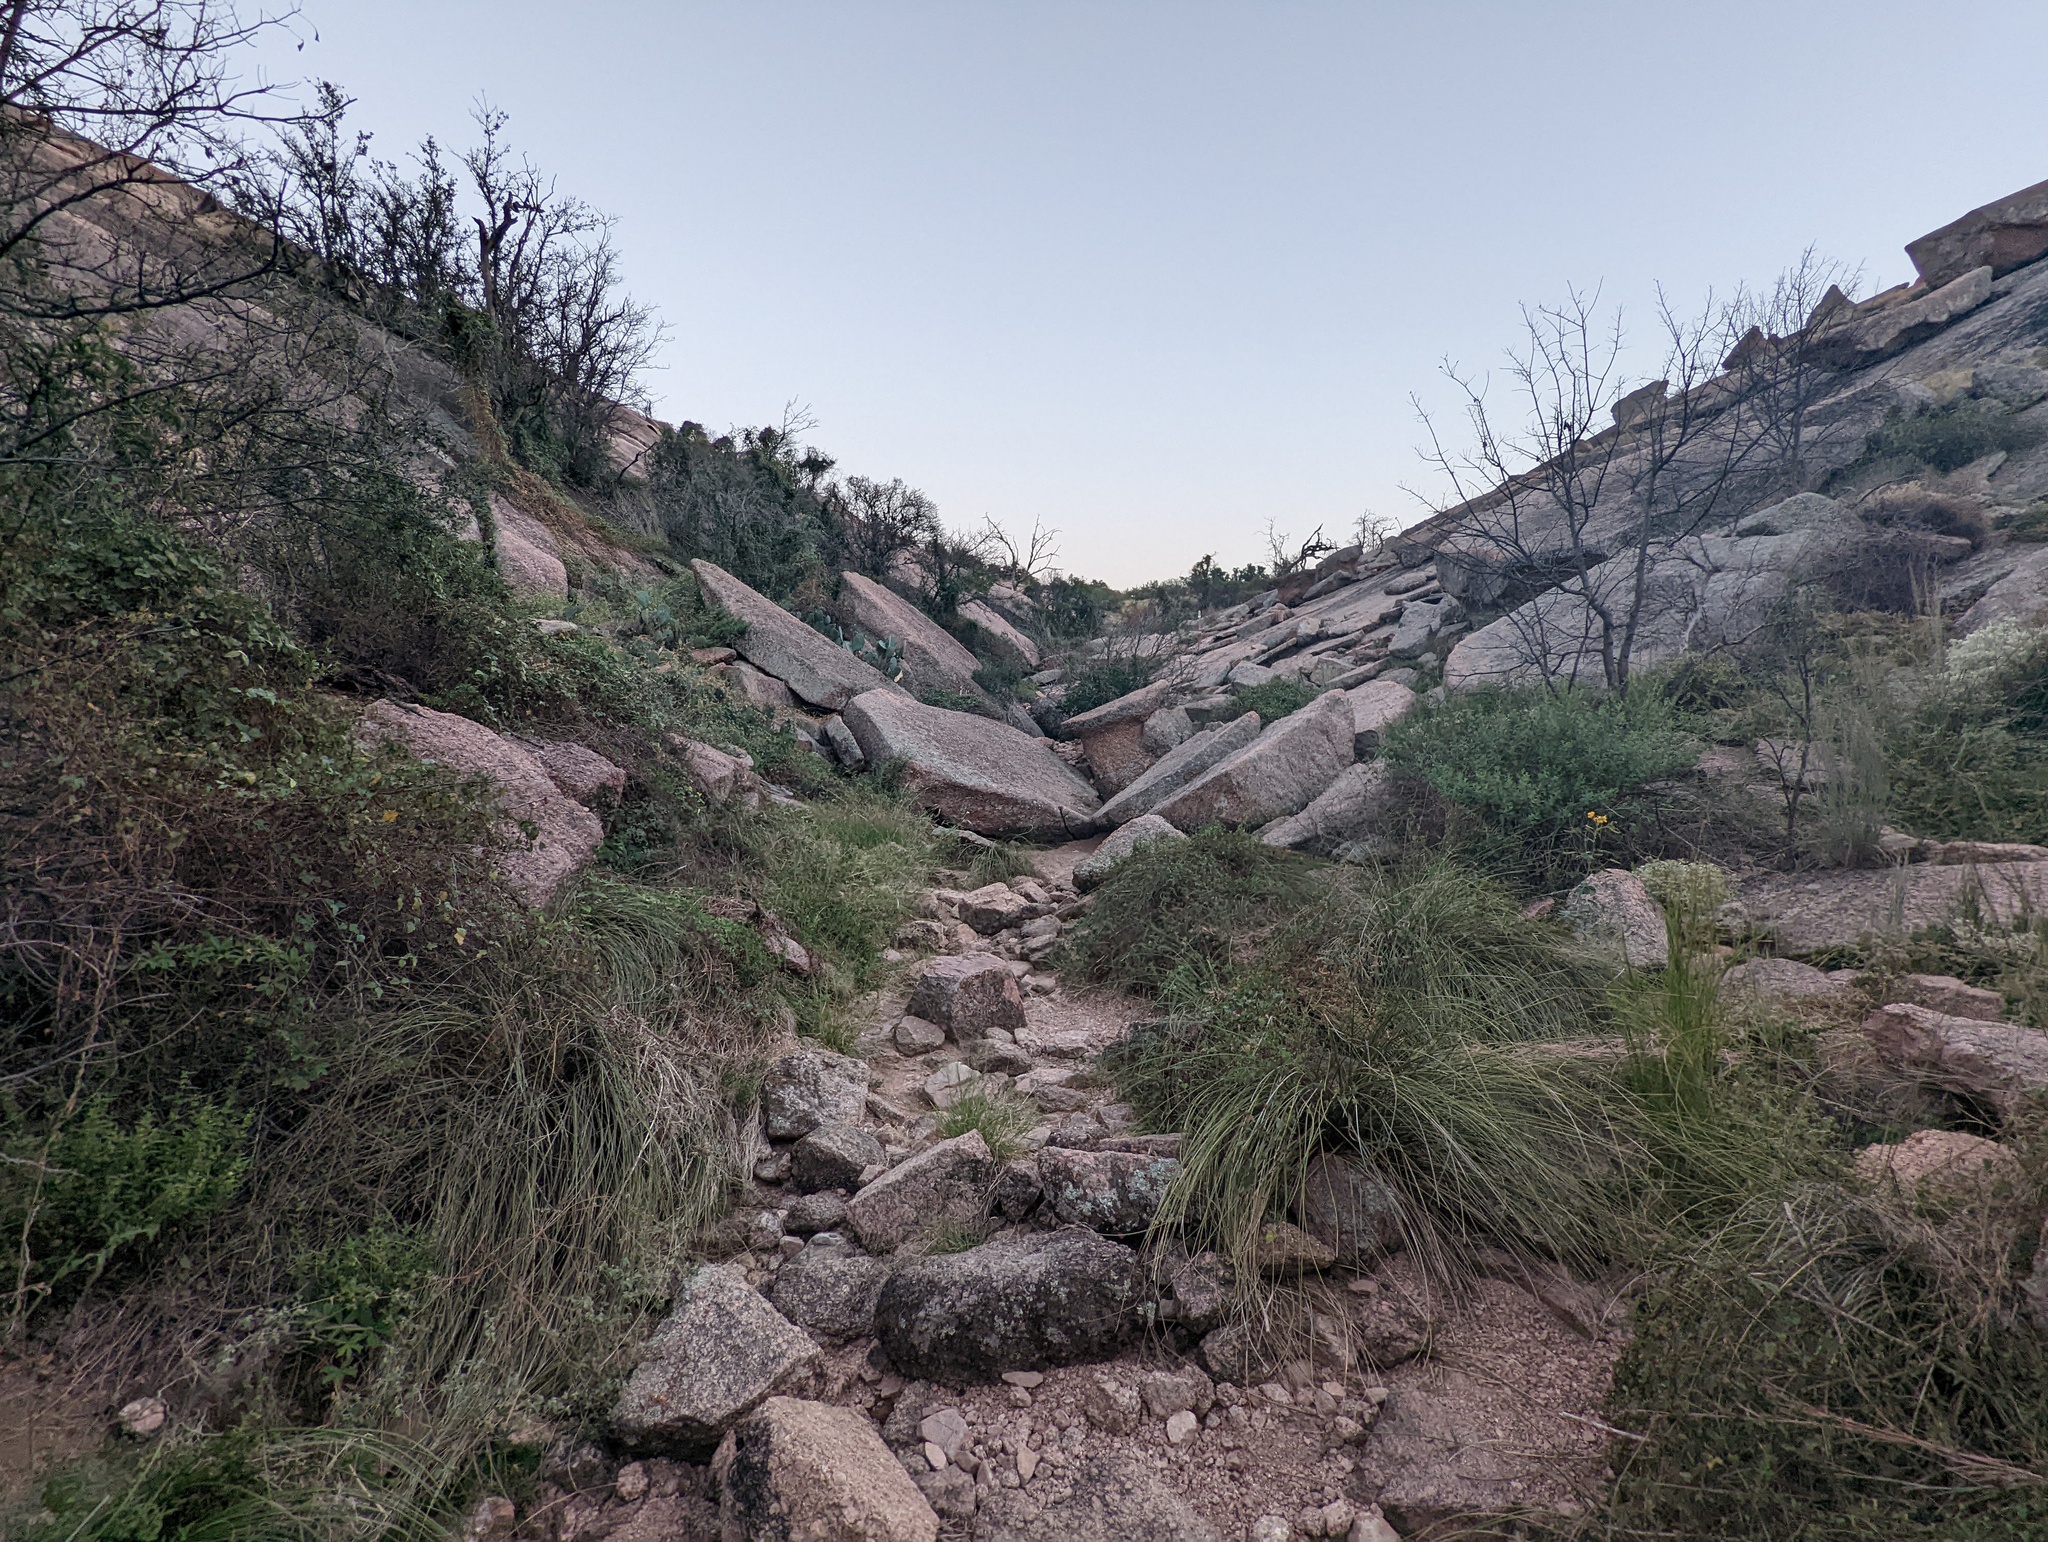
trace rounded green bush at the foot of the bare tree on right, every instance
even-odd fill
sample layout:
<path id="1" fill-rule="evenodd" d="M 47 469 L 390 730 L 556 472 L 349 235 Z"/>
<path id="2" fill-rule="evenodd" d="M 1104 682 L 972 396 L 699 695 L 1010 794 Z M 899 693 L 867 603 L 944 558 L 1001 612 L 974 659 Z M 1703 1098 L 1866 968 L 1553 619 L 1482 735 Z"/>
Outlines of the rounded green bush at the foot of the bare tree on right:
<path id="1" fill-rule="evenodd" d="M 1403 776 L 1479 815 L 1493 854 L 1518 866 L 1626 844 L 1642 786 L 1692 766 L 1698 745 L 1671 706 L 1638 686 L 1473 692 L 1423 704 L 1386 733 Z"/>

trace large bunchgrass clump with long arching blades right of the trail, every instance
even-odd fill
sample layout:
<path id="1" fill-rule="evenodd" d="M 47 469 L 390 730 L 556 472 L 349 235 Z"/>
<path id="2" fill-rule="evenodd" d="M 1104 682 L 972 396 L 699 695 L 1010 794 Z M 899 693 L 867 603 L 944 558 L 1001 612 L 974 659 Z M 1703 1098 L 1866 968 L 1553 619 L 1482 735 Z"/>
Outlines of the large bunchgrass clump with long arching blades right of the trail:
<path id="1" fill-rule="evenodd" d="M 1399 1196 L 1411 1247 L 1593 1259 L 1618 1241 L 1614 1118 L 1569 1055 L 1599 975 L 1452 866 L 1356 874 L 1255 958 L 1186 954 L 1167 1018 L 1108 1069 L 1151 1128 L 1180 1130 L 1161 1227 L 1245 1259 L 1331 1153 Z"/>

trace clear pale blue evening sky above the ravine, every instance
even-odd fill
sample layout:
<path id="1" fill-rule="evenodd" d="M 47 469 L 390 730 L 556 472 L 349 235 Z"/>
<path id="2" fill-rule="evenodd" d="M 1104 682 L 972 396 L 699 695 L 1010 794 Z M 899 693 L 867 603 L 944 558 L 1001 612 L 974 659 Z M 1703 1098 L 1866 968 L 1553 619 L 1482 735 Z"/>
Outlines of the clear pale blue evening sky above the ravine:
<path id="1" fill-rule="evenodd" d="M 293 41 L 297 47 L 293 47 Z M 2048 4 L 303 0 L 379 156 L 479 98 L 618 217 L 655 416 L 791 403 L 1130 586 L 1440 496 L 1522 305 L 1767 285 L 2048 178 Z"/>

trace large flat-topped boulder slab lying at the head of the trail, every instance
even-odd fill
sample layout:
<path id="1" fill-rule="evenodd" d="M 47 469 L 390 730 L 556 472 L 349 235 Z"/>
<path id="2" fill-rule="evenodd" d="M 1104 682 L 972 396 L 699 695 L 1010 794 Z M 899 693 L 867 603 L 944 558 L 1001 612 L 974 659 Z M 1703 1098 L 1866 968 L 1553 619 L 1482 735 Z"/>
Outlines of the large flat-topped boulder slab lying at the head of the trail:
<path id="1" fill-rule="evenodd" d="M 903 764 L 918 801 L 981 836 L 1067 836 L 1094 823 L 1096 790 L 1044 739 L 969 713 L 870 690 L 842 713 L 868 764 Z"/>

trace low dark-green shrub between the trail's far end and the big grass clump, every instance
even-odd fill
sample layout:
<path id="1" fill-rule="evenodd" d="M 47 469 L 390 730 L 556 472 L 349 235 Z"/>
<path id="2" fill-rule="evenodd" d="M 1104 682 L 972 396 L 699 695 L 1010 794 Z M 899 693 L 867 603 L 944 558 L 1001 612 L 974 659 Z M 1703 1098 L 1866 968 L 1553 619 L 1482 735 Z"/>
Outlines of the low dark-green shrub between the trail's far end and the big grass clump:
<path id="1" fill-rule="evenodd" d="M 1243 934 L 1292 913 L 1317 887 L 1292 852 L 1210 827 L 1118 862 L 1061 946 L 1092 981 L 1157 991 L 1192 960 L 1227 962 Z"/>

